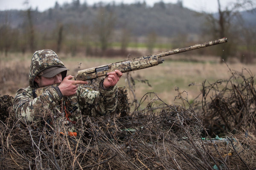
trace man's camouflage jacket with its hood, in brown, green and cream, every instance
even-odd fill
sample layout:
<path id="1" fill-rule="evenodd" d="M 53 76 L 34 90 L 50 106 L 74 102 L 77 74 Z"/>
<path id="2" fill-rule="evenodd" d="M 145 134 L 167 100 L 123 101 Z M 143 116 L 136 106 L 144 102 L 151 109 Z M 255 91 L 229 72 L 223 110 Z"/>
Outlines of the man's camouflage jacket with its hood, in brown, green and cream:
<path id="1" fill-rule="evenodd" d="M 40 96 L 34 97 L 33 90 L 38 88 L 34 83 L 35 76 L 52 65 L 65 67 L 53 51 L 35 52 L 29 71 L 29 87 L 19 89 L 15 95 L 13 108 L 17 117 L 25 118 L 28 122 L 40 121 L 42 118 L 63 115 L 64 106 L 67 106 L 70 120 L 77 121 L 81 114 L 101 116 L 116 109 L 117 87 L 104 89 L 103 81 L 100 82 L 99 91 L 89 91 L 80 85 L 76 95 L 62 96 L 58 87 L 51 85 Z"/>

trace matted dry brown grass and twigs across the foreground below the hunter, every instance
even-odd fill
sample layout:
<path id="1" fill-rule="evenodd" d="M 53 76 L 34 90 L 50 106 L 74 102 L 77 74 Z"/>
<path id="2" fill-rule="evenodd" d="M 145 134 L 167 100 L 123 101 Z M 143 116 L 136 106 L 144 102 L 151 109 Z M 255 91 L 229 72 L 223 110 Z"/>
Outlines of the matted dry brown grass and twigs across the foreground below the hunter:
<path id="1" fill-rule="evenodd" d="M 157 115 L 152 106 L 160 108 Z M 151 94 L 148 106 L 133 116 L 113 114 L 97 119 L 83 116 L 83 124 L 77 129 L 82 135 L 75 138 L 60 134 L 65 132 L 64 119 L 55 119 L 50 129 L 27 125 L 15 119 L 13 111 L 8 112 L 10 116 L 0 122 L 3 169 L 252 170 L 256 167 L 255 128 L 229 133 L 221 140 L 202 139 L 207 130 L 193 109 L 166 105 L 155 94 Z"/>

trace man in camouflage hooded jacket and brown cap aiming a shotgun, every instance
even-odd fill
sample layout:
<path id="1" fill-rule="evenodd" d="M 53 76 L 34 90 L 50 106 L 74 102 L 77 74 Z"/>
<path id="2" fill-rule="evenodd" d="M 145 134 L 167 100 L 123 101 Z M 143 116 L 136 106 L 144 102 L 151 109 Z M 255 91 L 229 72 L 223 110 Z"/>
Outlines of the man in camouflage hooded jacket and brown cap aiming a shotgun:
<path id="1" fill-rule="evenodd" d="M 66 116 L 73 124 L 81 115 L 102 116 L 113 113 L 117 106 L 116 83 L 122 72 L 108 73 L 99 82 L 99 91 L 84 88 L 86 81 L 71 80 L 66 66 L 52 50 L 35 51 L 30 71 L 29 87 L 17 91 L 13 103 L 18 118 L 26 122 L 40 122 Z M 57 85 L 58 86 L 57 86 Z M 35 95 L 37 88 L 47 86 L 40 96 Z"/>

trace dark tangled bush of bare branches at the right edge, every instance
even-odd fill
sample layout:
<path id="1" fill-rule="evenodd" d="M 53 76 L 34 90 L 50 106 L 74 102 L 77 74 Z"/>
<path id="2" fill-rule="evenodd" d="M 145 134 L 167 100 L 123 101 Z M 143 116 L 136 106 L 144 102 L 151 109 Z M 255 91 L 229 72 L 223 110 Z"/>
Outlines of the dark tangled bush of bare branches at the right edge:
<path id="1" fill-rule="evenodd" d="M 249 74 L 246 78 L 243 72 Z M 256 88 L 252 73 L 231 71 L 228 80 L 218 80 L 202 87 L 202 99 L 194 108 L 211 136 L 255 130 Z"/>

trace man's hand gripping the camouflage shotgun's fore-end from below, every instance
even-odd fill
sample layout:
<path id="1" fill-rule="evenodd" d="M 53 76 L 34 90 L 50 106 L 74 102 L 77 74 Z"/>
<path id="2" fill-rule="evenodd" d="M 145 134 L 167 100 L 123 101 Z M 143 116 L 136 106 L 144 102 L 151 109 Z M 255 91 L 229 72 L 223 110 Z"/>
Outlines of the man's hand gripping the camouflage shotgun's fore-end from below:
<path id="1" fill-rule="evenodd" d="M 105 77 L 103 82 L 103 88 L 110 88 L 111 86 L 116 85 L 119 79 L 122 76 L 122 72 L 119 70 L 115 70 L 108 73 L 108 76 Z"/>

